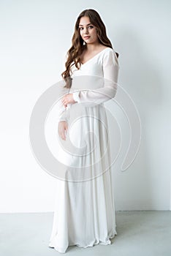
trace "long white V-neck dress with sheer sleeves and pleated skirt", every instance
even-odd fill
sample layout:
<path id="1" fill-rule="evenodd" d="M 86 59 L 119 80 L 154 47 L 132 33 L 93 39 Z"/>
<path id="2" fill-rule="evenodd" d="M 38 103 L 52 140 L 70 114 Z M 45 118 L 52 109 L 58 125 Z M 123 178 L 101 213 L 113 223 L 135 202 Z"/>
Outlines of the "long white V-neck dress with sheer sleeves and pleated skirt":
<path id="1" fill-rule="evenodd" d="M 61 105 L 58 121 L 69 124 L 63 145 L 74 145 L 75 154 L 58 152 L 66 161 L 64 180 L 56 178 L 56 203 L 49 246 L 66 252 L 68 246 L 111 244 L 117 235 L 110 140 L 104 102 L 115 97 L 118 58 L 112 48 L 72 66 L 72 88 L 76 101 Z M 67 144 L 69 142 L 69 144 Z M 67 147 L 67 146 L 66 146 Z M 72 151 L 71 148 L 69 150 Z"/>

